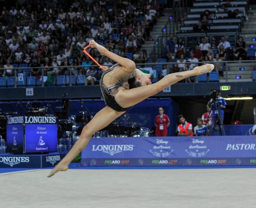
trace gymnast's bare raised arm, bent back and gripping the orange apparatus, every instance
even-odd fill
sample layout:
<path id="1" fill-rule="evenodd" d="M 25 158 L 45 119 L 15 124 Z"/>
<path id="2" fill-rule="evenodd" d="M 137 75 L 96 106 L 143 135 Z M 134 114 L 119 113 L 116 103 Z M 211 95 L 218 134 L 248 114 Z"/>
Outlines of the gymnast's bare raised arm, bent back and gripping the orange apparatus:
<path id="1" fill-rule="evenodd" d="M 111 60 L 119 63 L 126 72 L 133 72 L 136 68 L 135 63 L 127 58 L 123 58 L 115 53 L 110 52 L 108 49 L 96 43 L 94 40 L 89 42 L 91 48 L 96 48 L 103 56 L 107 56 Z"/>

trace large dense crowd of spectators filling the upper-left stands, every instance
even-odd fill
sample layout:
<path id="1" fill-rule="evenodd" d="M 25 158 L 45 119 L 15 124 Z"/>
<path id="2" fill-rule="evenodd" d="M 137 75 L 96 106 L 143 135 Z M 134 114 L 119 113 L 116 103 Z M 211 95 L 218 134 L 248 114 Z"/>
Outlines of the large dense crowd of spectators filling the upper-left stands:
<path id="1" fill-rule="evenodd" d="M 76 49 L 77 42 L 88 44 L 91 39 L 109 51 L 134 61 L 146 61 L 141 51 L 145 40 L 152 40 L 150 31 L 162 9 L 157 0 L 100 0 L 92 4 L 82 0 L 17 0 L 0 13 L 0 76 L 13 76 L 13 65 L 44 67 L 44 75 L 98 76 L 98 69 Z M 111 60 L 91 49 L 90 55 L 102 65 Z M 132 57 L 131 57 L 132 58 Z M 83 67 L 76 67 L 82 65 Z M 49 68 L 49 66 L 54 68 Z M 63 67 L 62 67 L 63 66 Z M 39 77 L 42 71 L 32 69 Z M 93 84 L 94 78 L 86 84 Z"/>

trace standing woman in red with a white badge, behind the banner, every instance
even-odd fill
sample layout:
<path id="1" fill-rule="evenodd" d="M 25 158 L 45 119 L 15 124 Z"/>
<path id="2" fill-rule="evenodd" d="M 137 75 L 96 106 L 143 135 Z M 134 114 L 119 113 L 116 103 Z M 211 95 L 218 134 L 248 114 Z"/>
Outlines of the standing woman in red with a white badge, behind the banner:
<path id="1" fill-rule="evenodd" d="M 166 137 L 168 134 L 170 119 L 166 114 L 164 114 L 164 108 L 160 107 L 158 111 L 159 115 L 155 116 L 155 135 L 157 137 Z"/>

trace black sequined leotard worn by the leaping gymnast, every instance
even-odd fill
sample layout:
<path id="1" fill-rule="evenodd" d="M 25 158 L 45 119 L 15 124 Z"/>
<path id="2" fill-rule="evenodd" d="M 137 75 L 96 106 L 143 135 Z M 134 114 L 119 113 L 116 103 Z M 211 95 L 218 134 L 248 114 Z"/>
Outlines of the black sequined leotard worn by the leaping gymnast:
<path id="1" fill-rule="evenodd" d="M 119 112 L 127 110 L 127 108 L 121 107 L 116 102 L 115 95 L 118 93 L 118 88 L 124 87 L 123 85 L 125 82 L 129 78 L 133 78 L 135 73 L 135 71 L 133 73 L 124 71 L 118 63 L 103 72 L 101 75 L 100 86 L 103 99 L 107 106 Z"/>

